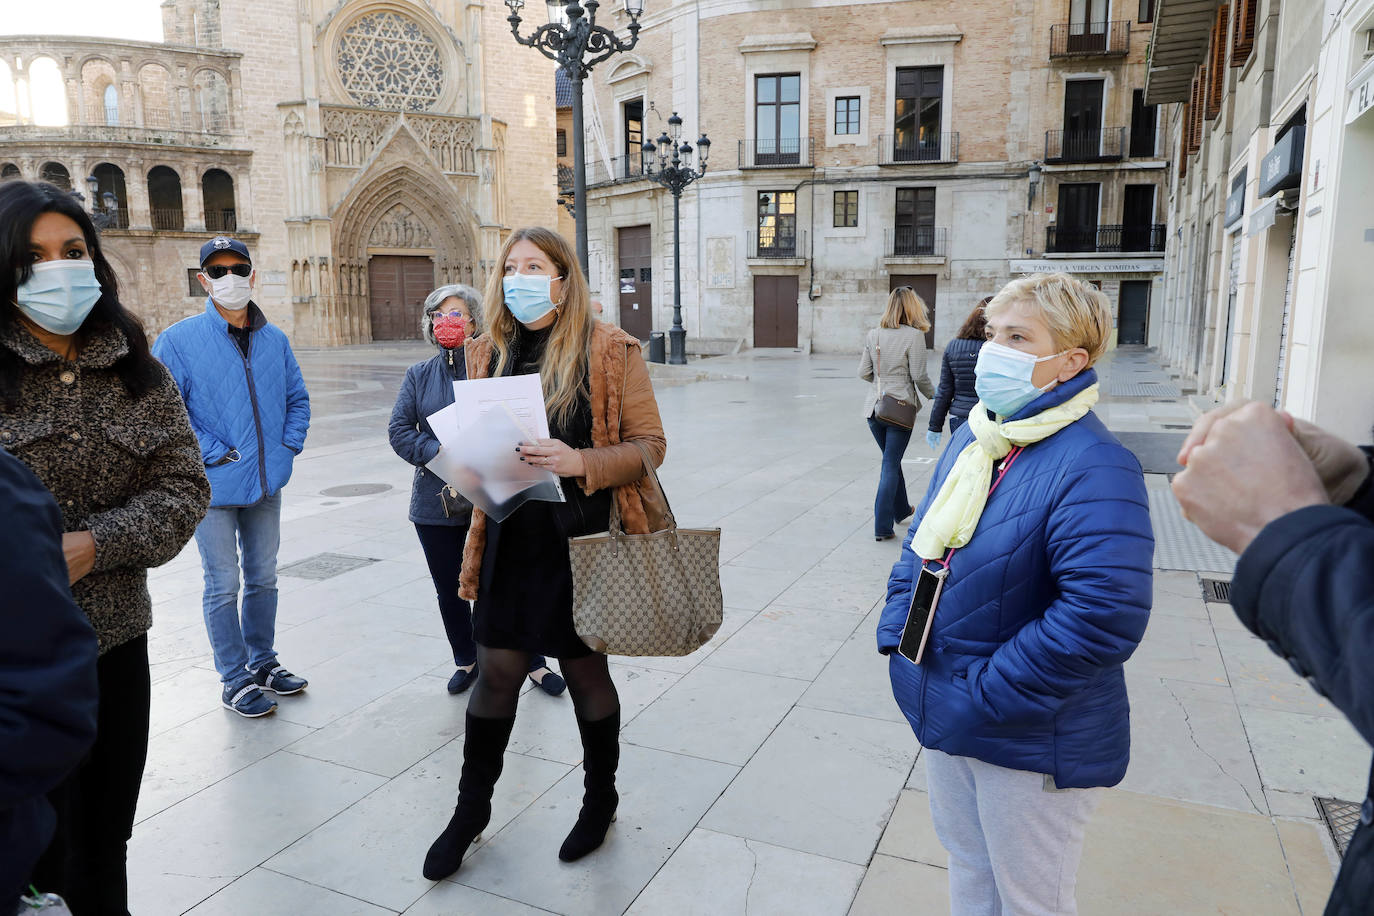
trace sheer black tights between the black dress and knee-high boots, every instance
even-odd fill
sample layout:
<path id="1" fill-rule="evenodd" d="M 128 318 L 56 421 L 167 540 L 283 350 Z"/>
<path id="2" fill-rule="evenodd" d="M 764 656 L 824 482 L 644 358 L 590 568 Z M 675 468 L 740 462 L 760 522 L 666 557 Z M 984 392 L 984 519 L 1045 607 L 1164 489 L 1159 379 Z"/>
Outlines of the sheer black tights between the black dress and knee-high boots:
<path id="1" fill-rule="evenodd" d="M 513 648 L 477 647 L 477 684 L 467 700 L 467 711 L 478 718 L 510 718 L 529 673 L 530 654 Z M 606 656 L 598 652 L 581 658 L 558 659 L 558 670 L 567 681 L 573 709 L 584 722 L 596 722 L 620 710 L 620 696 L 610 680 Z"/>

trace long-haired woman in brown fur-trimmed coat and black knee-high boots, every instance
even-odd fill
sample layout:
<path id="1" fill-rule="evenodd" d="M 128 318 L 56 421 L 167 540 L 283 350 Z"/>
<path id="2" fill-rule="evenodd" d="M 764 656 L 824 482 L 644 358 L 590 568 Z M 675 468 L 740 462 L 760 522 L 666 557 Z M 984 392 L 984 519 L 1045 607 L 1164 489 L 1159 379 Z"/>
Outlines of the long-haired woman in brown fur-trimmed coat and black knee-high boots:
<path id="1" fill-rule="evenodd" d="M 458 871 L 486 827 L 534 652 L 558 658 L 583 739 L 583 806 L 558 857 L 573 861 L 602 845 L 620 802 L 620 698 L 606 656 L 573 629 L 567 538 L 605 531 L 611 500 L 632 534 L 666 526 L 640 452 L 661 464 L 666 442 L 639 341 L 595 320 L 577 257 L 556 232 L 518 229 L 497 264 L 488 330 L 466 345 L 467 378 L 540 375 L 551 438 L 522 445 L 521 459 L 562 478 L 567 501 L 528 501 L 500 523 L 473 509 L 459 595 L 474 602 L 478 676 L 458 805 L 425 857 L 430 880 Z"/>

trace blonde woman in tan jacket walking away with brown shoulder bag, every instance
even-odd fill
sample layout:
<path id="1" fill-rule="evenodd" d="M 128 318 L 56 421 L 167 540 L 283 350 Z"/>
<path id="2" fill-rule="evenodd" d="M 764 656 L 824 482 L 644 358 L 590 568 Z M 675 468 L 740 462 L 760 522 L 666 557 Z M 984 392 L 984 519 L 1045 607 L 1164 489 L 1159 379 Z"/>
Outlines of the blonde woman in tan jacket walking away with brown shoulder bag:
<path id="1" fill-rule="evenodd" d="M 874 540 L 888 541 L 896 537 L 893 526 L 911 516 L 914 509 L 907 497 L 907 478 L 901 474 L 901 456 L 907 453 L 911 430 L 883 423 L 874 411 L 885 394 L 908 401 L 921 409 L 919 390 L 927 398 L 936 396 L 926 372 L 926 331 L 930 330 L 930 313 L 916 291 L 910 286 L 899 286 L 888 295 L 888 309 L 878 327 L 864 338 L 863 357 L 859 360 L 859 378 L 870 382 L 868 397 L 864 398 L 863 413 L 868 419 L 868 430 L 882 450 L 882 472 L 878 477 L 878 496 L 872 503 Z M 881 371 L 879 371 L 881 368 Z"/>

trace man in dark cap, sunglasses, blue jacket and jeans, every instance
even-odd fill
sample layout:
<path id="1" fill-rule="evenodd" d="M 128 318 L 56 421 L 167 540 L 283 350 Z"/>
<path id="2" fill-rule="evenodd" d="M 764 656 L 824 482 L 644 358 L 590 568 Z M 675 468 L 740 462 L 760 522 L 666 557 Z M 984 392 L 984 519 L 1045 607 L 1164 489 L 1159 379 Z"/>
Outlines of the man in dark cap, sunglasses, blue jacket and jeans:
<path id="1" fill-rule="evenodd" d="M 210 511 L 195 542 L 221 702 L 254 718 L 276 709 L 262 691 L 287 695 L 306 685 L 278 663 L 273 641 L 282 488 L 305 448 L 311 398 L 286 334 L 251 301 L 247 246 L 225 236 L 206 242 L 199 279 L 209 294 L 205 312 L 158 335 L 153 354 L 181 387 L 210 478 Z"/>

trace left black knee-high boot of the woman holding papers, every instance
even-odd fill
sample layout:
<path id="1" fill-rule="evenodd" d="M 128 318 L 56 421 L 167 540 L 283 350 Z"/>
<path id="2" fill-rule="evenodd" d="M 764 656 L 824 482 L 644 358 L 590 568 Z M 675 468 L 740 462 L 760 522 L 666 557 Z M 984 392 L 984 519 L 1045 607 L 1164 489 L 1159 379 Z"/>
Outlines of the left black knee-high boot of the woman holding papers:
<path id="1" fill-rule="evenodd" d="M 463 853 L 492 818 L 492 790 L 502 775 L 506 744 L 515 717 L 480 718 L 467 714 L 463 736 L 463 776 L 458 780 L 458 805 L 448 827 L 425 856 L 425 878 L 437 882 L 463 864 Z"/>

